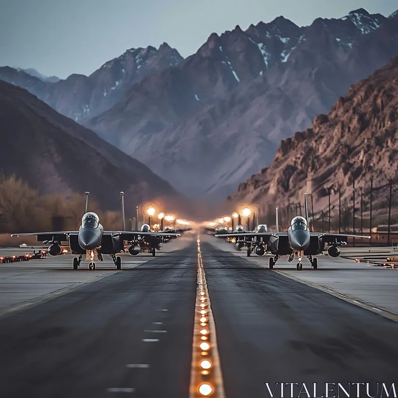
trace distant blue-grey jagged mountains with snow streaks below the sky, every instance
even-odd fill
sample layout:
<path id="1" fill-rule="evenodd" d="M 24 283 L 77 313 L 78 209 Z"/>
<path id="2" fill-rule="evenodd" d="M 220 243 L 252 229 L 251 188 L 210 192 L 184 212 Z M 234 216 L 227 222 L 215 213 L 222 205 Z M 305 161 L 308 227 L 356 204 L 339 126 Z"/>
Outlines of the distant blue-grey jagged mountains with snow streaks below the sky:
<path id="1" fill-rule="evenodd" d="M 398 14 L 351 11 L 299 27 L 280 16 L 212 33 L 183 59 L 168 44 L 130 49 L 89 77 L 42 82 L 0 68 L 179 191 L 219 199 L 269 165 L 350 85 L 398 54 Z"/>

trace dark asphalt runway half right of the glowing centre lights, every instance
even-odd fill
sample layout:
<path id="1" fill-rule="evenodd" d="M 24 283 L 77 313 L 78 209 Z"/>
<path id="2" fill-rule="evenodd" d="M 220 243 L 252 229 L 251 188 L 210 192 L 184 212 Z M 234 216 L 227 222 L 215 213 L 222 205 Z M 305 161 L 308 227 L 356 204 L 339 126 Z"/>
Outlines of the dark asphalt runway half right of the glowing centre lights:
<path id="1" fill-rule="evenodd" d="M 396 381 L 398 323 L 208 243 L 201 248 L 226 397 L 270 397 L 264 383 Z"/>

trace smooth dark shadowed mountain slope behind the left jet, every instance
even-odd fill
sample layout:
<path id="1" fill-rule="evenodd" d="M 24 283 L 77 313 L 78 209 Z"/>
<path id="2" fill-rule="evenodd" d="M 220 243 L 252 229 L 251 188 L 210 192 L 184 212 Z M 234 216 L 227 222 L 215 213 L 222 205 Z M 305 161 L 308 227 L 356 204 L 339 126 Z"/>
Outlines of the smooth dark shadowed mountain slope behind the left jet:
<path id="1" fill-rule="evenodd" d="M 0 81 L 1 172 L 42 194 L 90 191 L 103 209 L 119 209 L 177 192 L 152 171 L 63 116 L 26 90 Z M 171 201 L 172 201 L 171 200 Z"/>

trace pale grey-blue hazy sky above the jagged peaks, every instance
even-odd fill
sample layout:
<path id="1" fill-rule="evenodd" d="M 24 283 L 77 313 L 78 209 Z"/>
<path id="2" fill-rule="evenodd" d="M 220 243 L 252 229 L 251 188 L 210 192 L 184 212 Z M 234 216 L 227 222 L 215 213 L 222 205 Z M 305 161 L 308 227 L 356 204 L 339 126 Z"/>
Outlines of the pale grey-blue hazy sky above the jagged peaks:
<path id="1" fill-rule="evenodd" d="M 127 48 L 166 41 L 183 57 L 212 32 L 284 15 L 298 25 L 363 7 L 386 16 L 397 0 L 0 0 L 0 65 L 66 78 L 89 75 Z"/>

